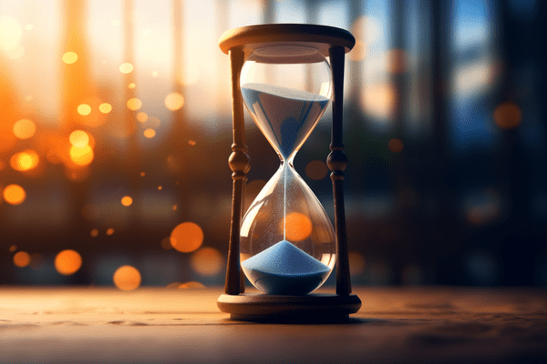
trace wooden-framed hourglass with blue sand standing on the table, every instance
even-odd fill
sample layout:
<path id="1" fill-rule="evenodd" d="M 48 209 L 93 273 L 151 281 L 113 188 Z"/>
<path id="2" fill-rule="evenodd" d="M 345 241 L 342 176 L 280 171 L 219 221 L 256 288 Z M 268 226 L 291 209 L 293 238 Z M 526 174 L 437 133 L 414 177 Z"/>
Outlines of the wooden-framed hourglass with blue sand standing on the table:
<path id="1" fill-rule="evenodd" d="M 347 319 L 361 306 L 351 295 L 342 180 L 344 58 L 355 38 L 323 25 L 253 25 L 232 29 L 219 45 L 232 68 L 232 225 L 223 312 L 244 320 Z M 325 56 L 330 58 L 330 65 Z M 335 228 L 294 170 L 303 146 L 332 99 L 327 165 Z M 280 157 L 280 167 L 242 218 L 250 158 L 243 103 Z M 313 293 L 336 267 L 336 294 Z M 243 274 L 262 293 L 244 293 Z"/>

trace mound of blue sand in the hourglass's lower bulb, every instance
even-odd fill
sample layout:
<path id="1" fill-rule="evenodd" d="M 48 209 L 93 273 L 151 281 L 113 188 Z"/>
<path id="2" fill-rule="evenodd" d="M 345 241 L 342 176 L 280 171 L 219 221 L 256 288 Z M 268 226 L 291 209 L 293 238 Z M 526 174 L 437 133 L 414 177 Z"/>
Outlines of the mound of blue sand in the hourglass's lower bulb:
<path id="1" fill-rule="evenodd" d="M 287 240 L 242 262 L 254 286 L 270 295 L 305 295 L 328 277 L 330 268 Z"/>

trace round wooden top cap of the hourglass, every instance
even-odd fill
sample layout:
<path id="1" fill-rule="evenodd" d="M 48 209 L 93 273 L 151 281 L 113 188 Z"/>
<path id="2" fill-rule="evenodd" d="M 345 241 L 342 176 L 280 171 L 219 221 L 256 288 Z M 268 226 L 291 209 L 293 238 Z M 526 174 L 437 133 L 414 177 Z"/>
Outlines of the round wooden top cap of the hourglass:
<path id="1" fill-rule="evenodd" d="M 343 46 L 346 53 L 356 44 L 356 38 L 347 30 L 326 25 L 264 24 L 234 28 L 224 32 L 219 40 L 222 52 L 242 49 L 245 58 L 258 48 L 272 45 L 300 45 L 317 49 L 328 56 L 329 48 Z"/>

